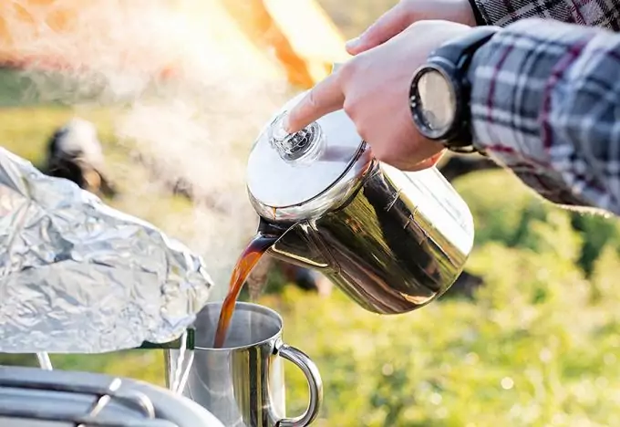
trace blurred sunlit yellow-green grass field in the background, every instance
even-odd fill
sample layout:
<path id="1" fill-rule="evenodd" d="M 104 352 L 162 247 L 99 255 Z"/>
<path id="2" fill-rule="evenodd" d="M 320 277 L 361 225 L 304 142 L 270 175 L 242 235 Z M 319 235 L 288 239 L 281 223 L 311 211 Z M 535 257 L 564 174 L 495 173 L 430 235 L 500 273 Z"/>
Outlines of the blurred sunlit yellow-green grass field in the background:
<path id="1" fill-rule="evenodd" d="M 322 3 L 347 36 L 380 9 L 380 2 L 348 9 Z M 10 99 L 20 89 L 12 83 L 0 90 Z M 48 135 L 74 112 L 59 105 L 0 109 L 0 144 L 39 164 Z M 113 205 L 164 229 L 187 220 L 185 200 L 160 193 L 152 209 L 151 194 L 131 192 L 131 183 L 149 180 L 149 172 L 127 167 L 129 149 L 116 141 L 109 109 L 82 108 L 79 115 L 97 123 L 111 173 L 131 194 Z M 620 425 L 617 221 L 544 203 L 508 172 L 477 172 L 456 187 L 476 224 L 468 269 L 486 282 L 472 298 L 449 293 L 417 312 L 380 317 L 337 290 L 317 297 L 272 277 L 260 302 L 283 314 L 286 342 L 315 359 L 325 381 L 315 425 Z M 140 207 L 145 203 L 150 208 Z M 163 383 L 159 350 L 52 361 L 61 369 Z M 305 380 L 292 366 L 286 376 L 293 415 L 305 408 Z"/>

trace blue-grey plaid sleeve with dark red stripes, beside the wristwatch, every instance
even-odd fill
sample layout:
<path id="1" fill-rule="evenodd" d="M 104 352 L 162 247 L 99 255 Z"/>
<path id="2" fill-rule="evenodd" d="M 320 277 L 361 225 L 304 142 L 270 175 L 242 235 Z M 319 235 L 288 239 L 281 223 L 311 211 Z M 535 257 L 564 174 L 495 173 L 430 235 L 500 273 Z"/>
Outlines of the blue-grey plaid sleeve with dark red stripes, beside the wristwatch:
<path id="1" fill-rule="evenodd" d="M 526 19 L 470 66 L 474 145 L 553 203 L 620 213 L 620 35 Z"/>

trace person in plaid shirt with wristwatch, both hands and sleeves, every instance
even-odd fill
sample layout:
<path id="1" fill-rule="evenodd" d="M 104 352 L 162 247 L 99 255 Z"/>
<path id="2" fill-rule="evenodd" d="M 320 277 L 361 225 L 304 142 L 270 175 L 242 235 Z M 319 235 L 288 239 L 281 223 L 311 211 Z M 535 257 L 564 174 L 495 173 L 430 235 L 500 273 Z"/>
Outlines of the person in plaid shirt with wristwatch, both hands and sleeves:
<path id="1" fill-rule="evenodd" d="M 620 8 L 544 5 L 403 1 L 349 42 L 355 57 L 289 111 L 287 130 L 345 109 L 402 170 L 477 151 L 554 203 L 618 214 Z"/>

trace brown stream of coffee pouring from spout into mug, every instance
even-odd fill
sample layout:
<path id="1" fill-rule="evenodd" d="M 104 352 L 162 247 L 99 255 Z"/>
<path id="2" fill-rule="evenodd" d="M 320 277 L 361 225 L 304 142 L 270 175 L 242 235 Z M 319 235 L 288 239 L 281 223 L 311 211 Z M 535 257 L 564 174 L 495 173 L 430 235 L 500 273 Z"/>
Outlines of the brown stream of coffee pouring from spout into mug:
<path id="1" fill-rule="evenodd" d="M 237 303 L 237 298 L 245 280 L 250 276 L 253 267 L 258 264 L 267 249 L 274 245 L 277 239 L 278 237 L 274 235 L 256 234 L 237 260 L 237 264 L 233 269 L 233 276 L 231 276 L 228 294 L 222 304 L 222 311 L 220 312 L 220 319 L 218 320 L 213 342 L 214 349 L 221 349 L 224 345 L 228 327 L 231 325 L 231 319 L 233 318 L 234 306 Z"/>

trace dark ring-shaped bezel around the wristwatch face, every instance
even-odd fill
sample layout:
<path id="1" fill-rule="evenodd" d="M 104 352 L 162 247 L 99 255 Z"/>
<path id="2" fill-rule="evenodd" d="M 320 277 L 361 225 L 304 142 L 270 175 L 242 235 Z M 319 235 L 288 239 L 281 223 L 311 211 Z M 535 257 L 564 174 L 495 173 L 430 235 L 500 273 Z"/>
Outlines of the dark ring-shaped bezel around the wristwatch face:
<path id="1" fill-rule="evenodd" d="M 427 122 L 426 120 L 424 120 L 424 115 L 422 113 L 422 110 L 420 109 L 421 102 L 418 91 L 418 83 L 419 80 L 429 72 L 437 72 L 442 78 L 444 78 L 447 83 L 446 86 L 448 86 L 454 99 L 454 111 L 452 114 L 452 120 L 450 121 L 449 125 L 438 130 L 431 129 L 429 128 L 429 126 L 427 126 Z M 452 78 L 452 75 L 453 73 L 442 67 L 442 65 L 428 62 L 415 71 L 411 80 L 411 86 L 409 88 L 409 107 L 413 116 L 413 121 L 415 122 L 416 127 L 418 128 L 418 131 L 422 134 L 422 136 L 432 141 L 449 140 L 451 135 L 458 133 L 458 130 L 461 126 L 460 116 L 462 110 L 462 99 L 460 99 L 460 82 L 455 81 L 454 78 Z"/>

